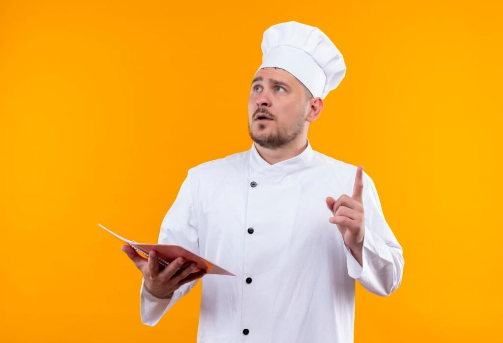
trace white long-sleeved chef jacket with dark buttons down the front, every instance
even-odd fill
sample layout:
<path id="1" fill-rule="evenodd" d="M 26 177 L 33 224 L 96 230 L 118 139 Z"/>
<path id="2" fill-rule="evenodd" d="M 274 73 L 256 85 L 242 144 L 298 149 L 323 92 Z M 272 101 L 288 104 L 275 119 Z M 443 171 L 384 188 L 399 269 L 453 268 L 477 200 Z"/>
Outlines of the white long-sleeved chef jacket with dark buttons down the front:
<path id="1" fill-rule="evenodd" d="M 254 143 L 189 169 L 158 243 L 185 246 L 237 275 L 201 279 L 198 342 L 353 342 L 355 279 L 380 296 L 400 285 L 402 248 L 374 182 L 363 172 L 362 267 L 328 221 L 325 203 L 353 194 L 357 167 L 307 143 L 275 164 Z M 142 279 L 141 321 L 157 324 L 196 282 L 158 299 Z"/>

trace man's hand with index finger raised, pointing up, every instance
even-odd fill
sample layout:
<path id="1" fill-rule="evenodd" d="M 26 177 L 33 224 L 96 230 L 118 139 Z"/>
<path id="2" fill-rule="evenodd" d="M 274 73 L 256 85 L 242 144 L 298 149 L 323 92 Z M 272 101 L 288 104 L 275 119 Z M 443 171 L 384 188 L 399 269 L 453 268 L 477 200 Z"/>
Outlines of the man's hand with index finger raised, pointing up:
<path id="1" fill-rule="evenodd" d="M 351 197 L 343 194 L 337 200 L 332 197 L 325 199 L 326 206 L 333 214 L 333 217 L 330 217 L 328 221 L 337 224 L 339 231 L 343 235 L 344 242 L 351 248 L 352 252 L 357 254 L 358 252 L 361 254 L 363 237 L 365 235 L 362 174 L 363 165 L 360 165 L 356 169 L 355 185 L 353 186 L 353 195 Z"/>

